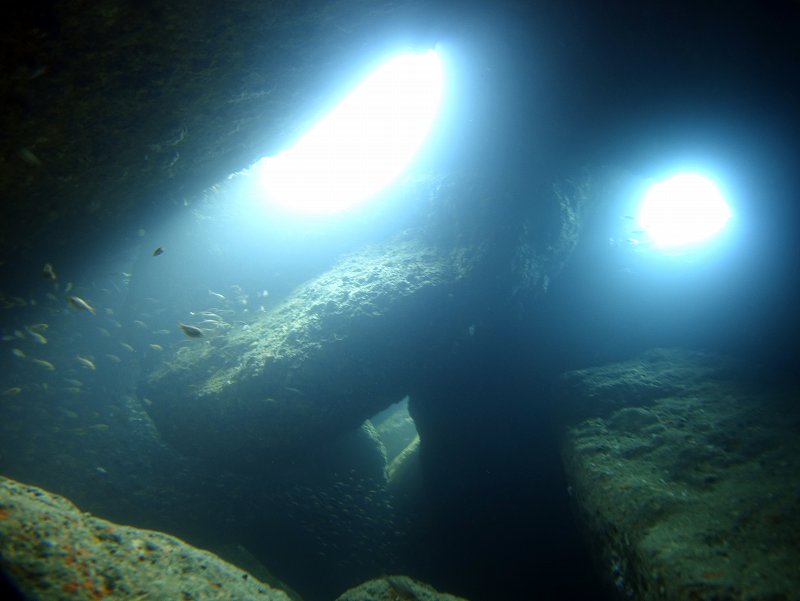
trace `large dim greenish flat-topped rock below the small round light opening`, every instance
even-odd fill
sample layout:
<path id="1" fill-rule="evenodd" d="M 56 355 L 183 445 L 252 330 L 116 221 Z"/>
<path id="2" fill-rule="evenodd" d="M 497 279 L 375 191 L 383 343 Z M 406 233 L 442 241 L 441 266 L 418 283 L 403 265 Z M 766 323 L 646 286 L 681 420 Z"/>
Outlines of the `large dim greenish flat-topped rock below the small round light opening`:
<path id="1" fill-rule="evenodd" d="M 572 494 L 620 598 L 800 598 L 800 415 L 749 372 L 653 350 L 564 376 Z"/>

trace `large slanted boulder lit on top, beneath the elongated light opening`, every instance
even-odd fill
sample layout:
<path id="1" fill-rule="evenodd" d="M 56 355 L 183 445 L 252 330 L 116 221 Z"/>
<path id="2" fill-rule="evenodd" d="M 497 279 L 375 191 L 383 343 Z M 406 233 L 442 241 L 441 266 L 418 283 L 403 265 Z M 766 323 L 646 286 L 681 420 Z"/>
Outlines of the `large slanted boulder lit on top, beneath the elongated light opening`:
<path id="1" fill-rule="evenodd" d="M 452 335 L 462 275 L 415 241 L 354 253 L 152 374 L 148 412 L 182 450 L 237 462 L 353 429 L 402 398 L 426 353 Z"/>

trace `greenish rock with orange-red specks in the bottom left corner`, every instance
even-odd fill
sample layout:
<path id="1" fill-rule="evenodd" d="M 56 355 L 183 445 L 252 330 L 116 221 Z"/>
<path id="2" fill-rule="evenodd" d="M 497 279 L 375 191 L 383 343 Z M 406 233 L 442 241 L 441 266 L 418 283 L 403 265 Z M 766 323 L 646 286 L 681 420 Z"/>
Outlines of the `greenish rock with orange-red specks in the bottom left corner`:
<path id="1" fill-rule="evenodd" d="M 29 599 L 271 599 L 280 590 L 207 551 L 82 513 L 0 479 L 0 566 Z"/>

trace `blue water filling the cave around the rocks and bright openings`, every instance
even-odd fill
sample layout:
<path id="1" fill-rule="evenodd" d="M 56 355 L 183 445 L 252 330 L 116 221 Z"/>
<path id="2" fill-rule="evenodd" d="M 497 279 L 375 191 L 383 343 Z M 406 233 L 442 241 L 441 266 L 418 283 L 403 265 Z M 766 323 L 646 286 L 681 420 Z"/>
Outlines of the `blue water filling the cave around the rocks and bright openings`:
<path id="1" fill-rule="evenodd" d="M 613 598 L 573 515 L 553 382 L 657 346 L 794 373 L 796 82 L 756 58 L 771 30 L 751 31 L 747 15 L 625 3 L 451 10 L 434 11 L 438 36 L 420 34 L 450 49 L 449 112 L 404 178 L 363 209 L 286 219 L 239 175 L 179 201 L 145 199 L 88 237 L 66 222 L 63 239 L 2 266 L 0 473 L 223 555 L 241 545 L 308 601 L 385 573 L 477 601 Z M 755 48 L 738 46 L 742 36 Z M 726 244 L 681 257 L 619 244 L 626 191 L 681 161 L 725 178 L 736 215 Z M 586 202 L 565 214 L 553 185 L 577 198 L 576 182 L 591 182 Z M 463 282 L 439 287 L 449 304 L 384 320 L 412 341 L 392 364 L 428 358 L 374 411 L 410 397 L 423 493 L 398 494 L 384 474 L 392 457 L 364 450 L 371 412 L 233 458 L 187 452 L 153 421 L 154 373 L 198 348 L 235 365 L 227 337 L 347 253 L 398 238 L 438 249 L 453 270 L 477 257 Z M 522 256 L 542 262 L 524 267 Z M 191 382 L 209 374 L 187 366 L 189 384 L 162 396 L 192 402 Z M 288 382 L 284 394 L 304 392 Z"/>

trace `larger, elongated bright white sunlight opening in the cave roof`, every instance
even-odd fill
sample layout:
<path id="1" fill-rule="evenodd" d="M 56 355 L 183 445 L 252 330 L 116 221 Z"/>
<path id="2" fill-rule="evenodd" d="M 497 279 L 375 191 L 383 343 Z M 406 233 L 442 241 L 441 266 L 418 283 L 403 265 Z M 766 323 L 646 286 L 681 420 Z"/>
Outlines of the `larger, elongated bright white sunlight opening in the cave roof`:
<path id="1" fill-rule="evenodd" d="M 436 52 L 390 59 L 294 146 L 254 166 L 267 202 L 293 213 L 326 215 L 368 200 L 422 146 L 443 87 Z"/>

